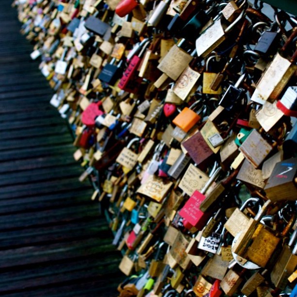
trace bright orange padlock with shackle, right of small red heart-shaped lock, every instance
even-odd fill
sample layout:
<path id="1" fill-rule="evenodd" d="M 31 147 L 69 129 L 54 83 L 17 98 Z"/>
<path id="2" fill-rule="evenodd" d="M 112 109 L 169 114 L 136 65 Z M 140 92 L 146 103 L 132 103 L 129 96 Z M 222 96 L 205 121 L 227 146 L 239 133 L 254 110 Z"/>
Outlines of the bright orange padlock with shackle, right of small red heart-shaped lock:
<path id="1" fill-rule="evenodd" d="M 185 107 L 172 121 L 173 124 L 181 128 L 182 131 L 188 132 L 198 121 L 200 120 L 201 113 L 203 107 L 201 107 L 198 112 L 194 112 L 192 108 L 194 108 L 200 101 L 196 101 L 193 103 L 190 108 Z"/>

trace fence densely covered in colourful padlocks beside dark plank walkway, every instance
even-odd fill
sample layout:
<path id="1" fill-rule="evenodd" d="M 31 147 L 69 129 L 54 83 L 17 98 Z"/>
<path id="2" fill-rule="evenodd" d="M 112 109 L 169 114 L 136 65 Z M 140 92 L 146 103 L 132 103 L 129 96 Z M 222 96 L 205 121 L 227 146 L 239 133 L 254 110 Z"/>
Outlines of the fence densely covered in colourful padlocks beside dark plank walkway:
<path id="1" fill-rule="evenodd" d="M 122 251 L 119 296 L 297 296 L 297 17 L 247 0 L 14 5 Z"/>

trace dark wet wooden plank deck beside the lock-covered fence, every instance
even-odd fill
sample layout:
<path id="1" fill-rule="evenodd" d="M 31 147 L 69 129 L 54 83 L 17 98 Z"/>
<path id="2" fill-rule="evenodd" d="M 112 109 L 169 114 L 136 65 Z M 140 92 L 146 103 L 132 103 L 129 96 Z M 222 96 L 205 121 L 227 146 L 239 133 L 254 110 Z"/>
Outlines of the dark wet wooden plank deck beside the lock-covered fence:
<path id="1" fill-rule="evenodd" d="M 65 120 L 0 0 L 0 295 L 117 296 L 123 280 Z"/>

